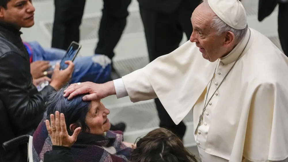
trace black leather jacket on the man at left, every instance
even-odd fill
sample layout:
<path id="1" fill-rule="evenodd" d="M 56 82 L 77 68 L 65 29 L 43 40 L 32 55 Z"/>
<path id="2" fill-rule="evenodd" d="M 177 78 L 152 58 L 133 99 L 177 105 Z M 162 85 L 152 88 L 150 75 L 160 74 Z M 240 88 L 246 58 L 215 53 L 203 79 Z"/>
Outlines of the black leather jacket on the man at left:
<path id="1" fill-rule="evenodd" d="M 21 34 L 0 23 L 0 99 L 15 136 L 31 134 L 37 128 L 45 111 L 46 96 L 54 89 L 46 86 L 38 92 L 32 84 L 29 54 Z"/>

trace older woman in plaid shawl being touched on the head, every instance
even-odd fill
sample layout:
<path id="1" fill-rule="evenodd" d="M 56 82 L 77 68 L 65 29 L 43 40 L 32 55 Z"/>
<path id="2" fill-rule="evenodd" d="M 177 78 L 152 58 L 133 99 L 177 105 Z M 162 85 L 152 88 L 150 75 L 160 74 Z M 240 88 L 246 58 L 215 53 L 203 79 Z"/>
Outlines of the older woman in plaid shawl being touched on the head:
<path id="1" fill-rule="evenodd" d="M 69 135 L 81 127 L 77 141 L 71 146 L 73 161 L 128 161 L 132 144 L 122 142 L 122 132 L 109 131 L 110 122 L 107 118 L 109 110 L 99 100 L 83 101 L 83 96 L 68 100 L 63 97 L 65 89 L 52 92 L 48 97 L 46 115 L 33 135 L 33 161 L 43 161 L 44 153 L 52 150 L 45 120 L 48 119 L 52 125 L 55 120 L 50 120 L 50 114 L 55 115 L 56 111 L 65 115 Z M 51 130 L 61 129 L 59 124 L 54 123 L 56 127 L 51 127 Z"/>

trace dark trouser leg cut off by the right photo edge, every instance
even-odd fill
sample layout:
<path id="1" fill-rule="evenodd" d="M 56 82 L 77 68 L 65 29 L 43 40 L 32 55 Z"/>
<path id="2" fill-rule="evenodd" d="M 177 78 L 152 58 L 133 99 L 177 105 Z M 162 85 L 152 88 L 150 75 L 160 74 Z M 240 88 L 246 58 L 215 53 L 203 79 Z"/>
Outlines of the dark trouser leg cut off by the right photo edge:
<path id="1" fill-rule="evenodd" d="M 279 3 L 278 35 L 284 54 L 288 56 L 288 3 Z"/>

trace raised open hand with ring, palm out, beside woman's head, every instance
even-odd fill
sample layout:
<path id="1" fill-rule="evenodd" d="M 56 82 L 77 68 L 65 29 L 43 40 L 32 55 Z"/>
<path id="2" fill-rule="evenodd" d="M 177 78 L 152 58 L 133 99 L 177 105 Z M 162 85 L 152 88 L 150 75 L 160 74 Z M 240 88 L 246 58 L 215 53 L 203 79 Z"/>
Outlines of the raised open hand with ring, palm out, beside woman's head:
<path id="1" fill-rule="evenodd" d="M 50 115 L 51 127 L 49 120 L 45 121 L 52 145 L 71 147 L 76 142 L 81 128 L 76 128 L 73 135 L 69 136 L 66 128 L 64 114 L 61 113 L 59 115 L 59 112 L 56 111 L 55 116 L 56 119 L 54 118 L 53 114 Z"/>

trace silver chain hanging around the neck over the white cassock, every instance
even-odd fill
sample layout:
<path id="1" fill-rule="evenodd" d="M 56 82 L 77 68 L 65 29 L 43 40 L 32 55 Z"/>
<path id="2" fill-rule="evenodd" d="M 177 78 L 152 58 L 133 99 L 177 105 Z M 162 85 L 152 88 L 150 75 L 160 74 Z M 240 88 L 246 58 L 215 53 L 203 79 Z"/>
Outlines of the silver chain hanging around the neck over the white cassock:
<path id="1" fill-rule="evenodd" d="M 248 28 L 249 29 L 249 28 Z M 239 55 L 239 57 L 237 58 L 237 60 L 235 61 L 235 63 L 233 64 L 233 66 L 230 68 L 230 70 L 228 71 L 228 73 L 226 74 L 226 76 L 223 78 L 223 80 L 221 81 L 221 83 L 219 84 L 219 86 L 217 87 L 216 91 L 213 93 L 213 95 L 211 96 L 211 98 L 209 99 L 208 103 L 211 101 L 212 97 L 215 95 L 215 93 L 217 92 L 218 88 L 221 86 L 221 84 L 223 83 L 223 81 L 226 79 L 226 77 L 228 76 L 228 74 L 230 73 L 230 71 L 232 70 L 232 68 L 234 67 L 234 65 L 236 64 L 236 62 L 240 59 L 242 53 L 244 52 L 249 40 L 250 40 L 250 36 L 251 36 L 251 30 L 249 29 L 249 38 L 248 38 L 248 41 L 244 47 L 244 49 L 242 50 L 241 54 Z M 218 63 L 217 63 L 218 65 Z M 209 88 L 208 88 L 208 91 L 207 91 L 207 95 L 206 95 L 206 100 L 205 100 L 205 103 L 204 103 L 204 108 L 203 108 L 203 111 L 202 111 L 202 114 L 199 116 L 199 122 L 198 122 L 198 125 L 196 127 L 196 130 L 195 130 L 195 133 L 194 135 L 196 135 L 197 131 L 198 131 L 198 128 L 200 127 L 201 125 L 201 120 L 203 118 L 203 115 L 204 115 L 204 112 L 206 110 L 206 107 L 208 106 L 208 103 L 206 104 L 206 101 L 207 101 L 207 98 L 208 98 L 208 94 L 209 94 L 209 90 L 210 90 L 210 87 L 211 87 L 211 84 L 212 84 L 212 81 L 213 81 L 213 78 L 215 76 L 215 73 L 216 73 L 216 69 L 217 69 L 217 65 L 215 67 L 215 70 L 214 70 L 214 74 L 213 74 L 213 77 L 211 79 L 211 82 L 210 82 L 210 85 L 209 85 Z"/>

